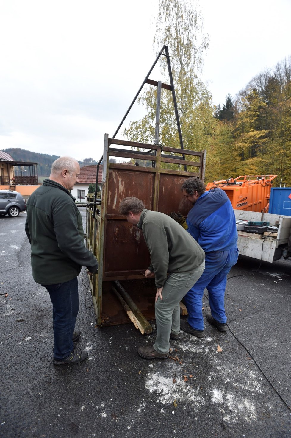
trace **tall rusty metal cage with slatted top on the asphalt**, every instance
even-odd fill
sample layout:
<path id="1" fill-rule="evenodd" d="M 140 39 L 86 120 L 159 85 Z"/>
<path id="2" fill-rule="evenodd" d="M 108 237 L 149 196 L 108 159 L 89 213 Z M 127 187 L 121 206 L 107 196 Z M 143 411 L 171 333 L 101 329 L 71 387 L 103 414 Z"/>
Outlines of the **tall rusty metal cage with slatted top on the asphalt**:
<path id="1" fill-rule="evenodd" d="M 109 156 L 133 160 L 111 163 Z M 86 244 L 99 262 L 98 274 L 90 278 L 98 327 L 130 322 L 112 293 L 112 282 L 116 280 L 122 283 L 145 318 L 154 319 L 154 280 L 144 277 L 150 254 L 142 231 L 119 214 L 119 202 L 126 196 L 135 196 L 148 209 L 186 215 L 190 206 L 180 187 L 189 177 L 204 180 L 205 157 L 205 151 L 162 148 L 116 140 L 105 134 L 101 205 L 87 208 L 86 219 Z M 151 161 L 152 166 L 134 165 L 134 160 Z M 176 169 L 167 168 L 171 166 Z M 177 169 L 184 166 L 193 171 Z"/>

